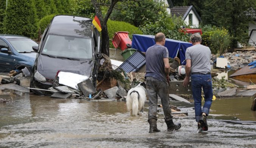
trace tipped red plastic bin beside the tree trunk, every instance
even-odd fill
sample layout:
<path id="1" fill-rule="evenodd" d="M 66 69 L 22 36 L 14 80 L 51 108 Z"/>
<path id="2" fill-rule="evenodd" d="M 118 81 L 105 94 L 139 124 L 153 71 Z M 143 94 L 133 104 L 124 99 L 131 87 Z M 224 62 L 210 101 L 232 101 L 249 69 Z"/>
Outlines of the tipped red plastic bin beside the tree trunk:
<path id="1" fill-rule="evenodd" d="M 112 44 L 115 48 L 120 47 L 121 50 L 131 48 L 131 39 L 128 36 L 129 32 L 119 31 L 115 33 Z"/>

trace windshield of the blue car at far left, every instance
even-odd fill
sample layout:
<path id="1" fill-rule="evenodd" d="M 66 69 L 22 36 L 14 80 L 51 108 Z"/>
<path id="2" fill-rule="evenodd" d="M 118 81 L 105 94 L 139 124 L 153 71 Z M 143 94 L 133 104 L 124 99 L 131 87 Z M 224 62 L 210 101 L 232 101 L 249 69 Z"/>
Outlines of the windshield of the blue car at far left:
<path id="1" fill-rule="evenodd" d="M 27 38 L 12 38 L 7 40 L 11 43 L 12 47 L 19 53 L 31 52 L 33 51 L 32 46 L 38 46 L 35 41 Z"/>

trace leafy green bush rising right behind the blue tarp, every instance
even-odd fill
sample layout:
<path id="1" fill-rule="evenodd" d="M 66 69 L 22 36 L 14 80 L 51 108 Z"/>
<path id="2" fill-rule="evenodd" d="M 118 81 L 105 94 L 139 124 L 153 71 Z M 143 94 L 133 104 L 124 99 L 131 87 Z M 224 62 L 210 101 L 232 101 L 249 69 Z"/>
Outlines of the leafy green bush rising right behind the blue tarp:
<path id="1" fill-rule="evenodd" d="M 159 17 L 156 21 L 145 19 L 143 25 L 139 28 L 143 34 L 155 35 L 162 32 L 166 38 L 179 41 L 189 41 L 189 36 L 181 32 L 181 26 L 186 26 L 181 17 L 171 16 L 167 13 L 159 12 Z"/>

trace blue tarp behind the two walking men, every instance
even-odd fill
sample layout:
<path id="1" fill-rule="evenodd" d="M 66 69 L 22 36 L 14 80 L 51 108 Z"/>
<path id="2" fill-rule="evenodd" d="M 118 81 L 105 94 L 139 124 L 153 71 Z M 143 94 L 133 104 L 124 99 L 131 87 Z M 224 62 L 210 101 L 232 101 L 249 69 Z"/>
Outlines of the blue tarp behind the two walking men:
<path id="1" fill-rule="evenodd" d="M 148 47 L 151 47 L 153 45 L 155 45 L 155 36 L 133 34 L 131 48 L 135 48 L 139 51 L 146 52 Z M 186 49 L 192 46 L 191 43 L 177 41 L 173 39 L 166 39 L 164 46 L 168 49 L 170 58 L 175 58 L 178 55 L 178 58 L 180 58 L 181 60 L 181 65 L 186 64 L 185 53 Z"/>

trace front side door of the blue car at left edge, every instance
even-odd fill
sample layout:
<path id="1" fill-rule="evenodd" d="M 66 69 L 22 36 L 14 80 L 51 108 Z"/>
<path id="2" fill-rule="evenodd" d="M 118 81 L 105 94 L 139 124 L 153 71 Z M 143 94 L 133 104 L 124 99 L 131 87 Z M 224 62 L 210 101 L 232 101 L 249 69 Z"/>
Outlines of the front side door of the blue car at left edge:
<path id="1" fill-rule="evenodd" d="M 2 48 L 7 48 L 9 51 L 11 51 L 11 48 L 9 47 L 9 45 L 3 39 L 0 39 L 0 50 Z M 0 72 L 10 72 L 12 70 L 12 60 L 13 60 L 12 52 L 11 53 L 0 52 Z"/>

